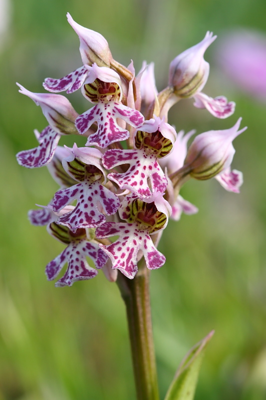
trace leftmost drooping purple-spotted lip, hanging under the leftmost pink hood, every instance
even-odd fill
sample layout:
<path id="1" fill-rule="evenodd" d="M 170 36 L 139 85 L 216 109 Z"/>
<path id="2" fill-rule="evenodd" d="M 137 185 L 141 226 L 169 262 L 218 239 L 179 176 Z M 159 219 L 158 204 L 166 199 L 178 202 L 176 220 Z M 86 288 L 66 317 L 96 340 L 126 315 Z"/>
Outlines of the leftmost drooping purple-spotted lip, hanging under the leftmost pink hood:
<path id="1" fill-rule="evenodd" d="M 47 165 L 56 150 L 60 134 L 55 132 L 50 126 L 44 128 L 39 137 L 38 147 L 29 150 L 19 151 L 16 154 L 16 159 L 19 165 L 26 166 L 27 168 L 36 168 Z"/>

